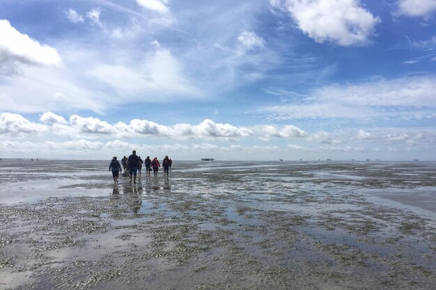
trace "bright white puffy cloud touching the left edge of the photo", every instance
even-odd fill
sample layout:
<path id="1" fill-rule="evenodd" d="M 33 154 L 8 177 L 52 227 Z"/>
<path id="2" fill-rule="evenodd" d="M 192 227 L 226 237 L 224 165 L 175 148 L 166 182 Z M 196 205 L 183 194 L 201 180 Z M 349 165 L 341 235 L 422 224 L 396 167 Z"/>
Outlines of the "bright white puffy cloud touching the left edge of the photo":
<path id="1" fill-rule="evenodd" d="M 22 34 L 0 19 L 0 74 L 17 73 L 17 65 L 61 65 L 56 49 Z"/>

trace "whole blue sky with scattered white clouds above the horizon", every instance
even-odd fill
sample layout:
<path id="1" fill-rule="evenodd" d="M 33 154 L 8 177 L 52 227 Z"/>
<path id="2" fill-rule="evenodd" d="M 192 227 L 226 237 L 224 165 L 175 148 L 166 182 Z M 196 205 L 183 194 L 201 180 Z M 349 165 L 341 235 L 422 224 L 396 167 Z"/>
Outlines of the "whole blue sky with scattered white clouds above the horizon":
<path id="1" fill-rule="evenodd" d="M 0 0 L 0 158 L 435 161 L 436 0 Z"/>

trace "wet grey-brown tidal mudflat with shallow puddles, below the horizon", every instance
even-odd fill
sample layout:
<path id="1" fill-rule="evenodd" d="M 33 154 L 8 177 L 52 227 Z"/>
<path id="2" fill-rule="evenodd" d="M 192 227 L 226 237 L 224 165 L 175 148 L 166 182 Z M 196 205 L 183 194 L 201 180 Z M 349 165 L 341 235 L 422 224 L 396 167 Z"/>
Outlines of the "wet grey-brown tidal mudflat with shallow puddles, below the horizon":
<path id="1" fill-rule="evenodd" d="M 0 289 L 436 289 L 436 163 L 0 161 Z"/>

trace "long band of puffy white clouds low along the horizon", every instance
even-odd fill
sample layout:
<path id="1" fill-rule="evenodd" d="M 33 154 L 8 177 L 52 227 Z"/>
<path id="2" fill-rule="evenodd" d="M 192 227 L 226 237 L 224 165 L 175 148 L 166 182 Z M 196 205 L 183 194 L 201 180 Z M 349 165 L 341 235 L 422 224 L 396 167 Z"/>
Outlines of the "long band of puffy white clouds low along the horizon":
<path id="1" fill-rule="evenodd" d="M 74 156 L 75 158 L 105 159 L 114 156 L 114 154 L 123 154 L 120 152 L 127 154 L 127 152 L 137 150 L 141 155 L 153 152 L 153 154 L 160 156 L 178 152 L 182 156 L 191 156 L 189 158 L 200 154 L 200 156 L 212 155 L 214 158 L 239 160 L 242 156 L 244 158 L 258 156 L 258 158 L 265 160 L 270 160 L 272 156 L 283 158 L 283 154 L 288 156 L 287 153 L 295 154 L 296 151 L 302 154 L 299 158 L 304 159 L 311 158 L 310 156 L 314 152 L 317 154 L 350 152 L 352 155 L 348 155 L 347 158 L 357 158 L 353 157 L 353 153 L 368 152 L 369 148 L 371 148 L 369 151 L 379 152 L 379 154 L 387 152 L 390 150 L 389 148 L 396 152 L 404 152 L 404 150 L 411 150 L 412 147 L 418 148 L 416 150 L 432 147 L 436 140 L 436 130 L 426 127 L 411 127 L 410 129 L 377 127 L 371 128 L 371 130 L 359 129 L 357 134 L 355 129 L 334 132 L 317 131 L 310 134 L 288 125 L 270 126 L 267 128 L 267 132 L 278 138 L 304 137 L 304 139 L 300 139 L 304 145 L 288 143 L 286 147 L 281 147 L 274 145 L 274 143 L 248 146 L 243 145 L 243 143 L 231 143 L 221 146 L 215 142 L 265 136 L 263 129 L 266 127 L 256 126 L 253 129 L 248 129 L 235 127 L 231 124 L 215 123 L 212 120 L 204 120 L 200 124 L 174 124 L 173 126 L 164 126 L 146 120 L 132 120 L 129 124 L 118 122 L 112 125 L 98 118 L 82 118 L 78 115 L 72 115 L 70 123 L 63 124 L 64 119 L 51 112 L 44 113 L 40 122 L 47 122 L 47 124 L 31 122 L 18 114 L 1 113 L 0 136 L 3 138 L 0 138 L 0 152 L 4 153 L 3 156 L 11 158 L 24 155 L 32 158 L 35 156 L 39 158 Z M 180 128 L 182 131 L 179 131 Z M 123 136 L 125 131 L 128 134 Z M 60 136 L 67 136 L 68 141 L 59 140 Z M 153 145 L 149 142 L 150 136 L 153 137 Z M 13 140 L 8 140 L 8 137 L 13 138 Z M 34 137 L 46 141 L 42 143 L 36 140 L 29 141 L 30 138 Z M 93 140 L 94 138 L 98 139 Z M 171 144 L 175 139 L 186 140 L 187 138 L 200 140 L 200 143 Z M 135 140 L 137 143 L 130 143 L 129 140 Z M 203 140 L 211 140 L 212 142 L 206 143 Z M 363 147 L 361 140 L 366 140 L 368 145 Z M 164 143 L 162 144 L 162 142 Z M 325 145 L 316 148 L 316 143 Z M 338 145 L 339 143 L 341 146 Z M 398 158 L 403 157 L 398 156 Z M 367 157 L 362 155 L 361 158 Z"/>

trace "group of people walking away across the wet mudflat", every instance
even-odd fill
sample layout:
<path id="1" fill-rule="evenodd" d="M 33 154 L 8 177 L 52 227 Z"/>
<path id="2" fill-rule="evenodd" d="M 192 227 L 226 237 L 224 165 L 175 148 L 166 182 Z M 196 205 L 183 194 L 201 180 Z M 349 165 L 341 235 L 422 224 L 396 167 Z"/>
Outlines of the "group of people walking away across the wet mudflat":
<path id="1" fill-rule="evenodd" d="M 109 164 L 109 171 L 112 171 L 112 177 L 114 177 L 114 183 L 118 183 L 118 177 L 121 170 L 123 170 L 123 177 L 127 177 L 127 173 L 130 177 L 130 182 L 132 182 L 133 177 L 133 183 L 137 183 L 137 175 L 141 177 L 141 169 L 142 164 L 146 166 L 146 176 L 150 176 L 150 172 L 153 169 L 154 176 L 157 176 L 157 172 L 159 171 L 160 163 L 159 160 L 157 160 L 157 157 L 155 157 L 153 160 L 150 159 L 150 156 L 147 156 L 147 158 L 142 161 L 141 156 L 137 156 L 136 150 L 132 151 L 132 154 L 129 157 L 124 156 L 123 159 L 121 159 L 121 163 L 123 163 L 123 168 L 121 168 L 120 162 L 117 160 L 116 156 L 112 158 L 111 163 Z M 164 168 L 164 176 L 169 175 L 169 168 L 171 168 L 171 165 L 173 164 L 173 161 L 168 158 L 168 156 L 164 157 L 164 160 L 162 160 L 162 166 Z"/>

